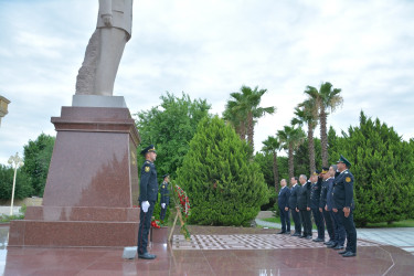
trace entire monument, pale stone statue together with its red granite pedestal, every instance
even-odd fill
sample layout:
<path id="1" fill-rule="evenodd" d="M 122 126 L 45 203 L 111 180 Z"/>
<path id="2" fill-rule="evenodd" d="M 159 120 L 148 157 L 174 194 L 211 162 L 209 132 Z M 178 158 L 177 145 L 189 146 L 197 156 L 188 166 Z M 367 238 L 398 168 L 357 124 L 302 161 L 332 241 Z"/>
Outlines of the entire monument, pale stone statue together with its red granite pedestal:
<path id="1" fill-rule="evenodd" d="M 51 121 L 57 131 L 43 201 L 10 224 L 8 246 L 137 244 L 138 129 L 114 82 L 131 34 L 132 0 L 99 0 L 72 106 Z"/>

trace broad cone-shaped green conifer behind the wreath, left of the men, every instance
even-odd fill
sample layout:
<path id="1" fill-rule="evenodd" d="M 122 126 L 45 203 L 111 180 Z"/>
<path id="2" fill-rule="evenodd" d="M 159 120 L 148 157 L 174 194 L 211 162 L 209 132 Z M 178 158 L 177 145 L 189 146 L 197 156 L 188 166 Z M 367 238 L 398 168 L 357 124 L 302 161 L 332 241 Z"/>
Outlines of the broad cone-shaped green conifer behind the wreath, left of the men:
<path id="1" fill-rule="evenodd" d="M 202 225 L 248 225 L 268 189 L 252 148 L 217 116 L 204 118 L 190 141 L 177 184 L 191 201 L 189 222 Z"/>

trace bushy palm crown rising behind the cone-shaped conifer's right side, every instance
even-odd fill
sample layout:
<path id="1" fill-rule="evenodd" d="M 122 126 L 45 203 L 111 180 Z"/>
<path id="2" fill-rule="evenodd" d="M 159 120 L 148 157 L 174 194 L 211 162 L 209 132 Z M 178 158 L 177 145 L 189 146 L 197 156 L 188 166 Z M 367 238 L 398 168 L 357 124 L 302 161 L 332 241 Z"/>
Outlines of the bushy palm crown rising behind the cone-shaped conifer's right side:
<path id="1" fill-rule="evenodd" d="M 252 149 L 254 150 L 254 125 L 261 117 L 265 114 L 274 114 L 276 108 L 274 106 L 270 107 L 258 107 L 262 100 L 262 96 L 267 92 L 267 89 L 259 89 L 256 86 L 252 89 L 248 86 L 243 85 L 238 92 L 234 92 L 230 94 L 233 99 L 230 99 L 226 105 L 226 110 L 231 115 L 224 114 L 224 117 L 232 118 L 235 116 L 238 118 L 241 131 L 243 127 L 246 127 L 246 135 L 247 135 L 247 142 L 251 145 Z M 241 137 L 243 136 L 240 132 Z"/>

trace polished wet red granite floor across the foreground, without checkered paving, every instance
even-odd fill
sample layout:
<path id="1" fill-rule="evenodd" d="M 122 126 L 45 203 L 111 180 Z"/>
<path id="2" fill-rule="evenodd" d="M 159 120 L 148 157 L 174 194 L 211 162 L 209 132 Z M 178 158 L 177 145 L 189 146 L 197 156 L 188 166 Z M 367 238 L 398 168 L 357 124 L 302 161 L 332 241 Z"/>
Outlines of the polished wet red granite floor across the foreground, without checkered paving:
<path id="1" fill-rule="evenodd" d="M 359 248 L 343 258 L 328 248 L 172 251 L 155 261 L 121 258 L 123 250 L 9 248 L 4 275 L 413 275 L 414 256 L 393 247 Z"/>

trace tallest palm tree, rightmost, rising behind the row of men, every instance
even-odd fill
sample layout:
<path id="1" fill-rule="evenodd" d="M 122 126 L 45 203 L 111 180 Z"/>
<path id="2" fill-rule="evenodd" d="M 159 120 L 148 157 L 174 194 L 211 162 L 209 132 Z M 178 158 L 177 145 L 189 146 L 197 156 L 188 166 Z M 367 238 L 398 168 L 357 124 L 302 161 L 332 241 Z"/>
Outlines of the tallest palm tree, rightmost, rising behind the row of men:
<path id="1" fill-rule="evenodd" d="M 322 149 L 322 166 L 328 167 L 328 135 L 327 135 L 327 117 L 330 113 L 333 113 L 336 108 L 343 103 L 343 98 L 339 95 L 340 88 L 332 89 L 331 83 L 322 83 L 319 92 L 312 86 L 307 86 L 305 94 L 309 95 L 310 98 L 315 99 L 316 105 L 319 109 L 319 121 L 320 121 L 320 144 Z M 329 112 L 328 112 L 329 110 Z"/>

